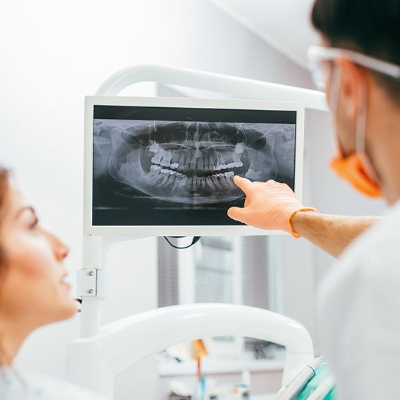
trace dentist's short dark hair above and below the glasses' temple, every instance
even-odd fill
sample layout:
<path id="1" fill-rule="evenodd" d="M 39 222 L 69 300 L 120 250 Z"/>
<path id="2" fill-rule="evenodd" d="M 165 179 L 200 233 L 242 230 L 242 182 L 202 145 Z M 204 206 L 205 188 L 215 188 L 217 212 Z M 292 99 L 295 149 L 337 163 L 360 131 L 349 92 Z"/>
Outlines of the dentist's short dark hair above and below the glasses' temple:
<path id="1" fill-rule="evenodd" d="M 399 0 L 316 0 L 311 19 L 331 46 L 400 66 Z M 400 79 L 372 73 L 392 99 L 400 103 Z"/>

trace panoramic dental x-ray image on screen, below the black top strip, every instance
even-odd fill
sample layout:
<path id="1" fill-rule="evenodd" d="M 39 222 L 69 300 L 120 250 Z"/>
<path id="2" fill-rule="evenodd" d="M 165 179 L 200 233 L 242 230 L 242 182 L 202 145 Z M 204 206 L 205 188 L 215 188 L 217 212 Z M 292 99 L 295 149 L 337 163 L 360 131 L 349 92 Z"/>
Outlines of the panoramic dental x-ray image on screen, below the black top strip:
<path id="1" fill-rule="evenodd" d="M 236 225 L 235 175 L 294 189 L 294 124 L 95 119 L 93 150 L 93 225 Z"/>

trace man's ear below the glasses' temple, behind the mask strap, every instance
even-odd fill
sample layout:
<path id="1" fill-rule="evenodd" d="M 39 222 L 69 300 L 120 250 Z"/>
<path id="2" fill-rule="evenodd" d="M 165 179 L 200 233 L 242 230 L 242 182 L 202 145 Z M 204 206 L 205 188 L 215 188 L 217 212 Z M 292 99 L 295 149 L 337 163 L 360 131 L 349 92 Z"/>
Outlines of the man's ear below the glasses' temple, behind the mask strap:
<path id="1" fill-rule="evenodd" d="M 360 108 L 364 106 L 367 80 L 365 71 L 353 61 L 339 58 L 337 65 L 341 68 L 341 95 L 342 110 L 349 119 L 356 118 Z"/>

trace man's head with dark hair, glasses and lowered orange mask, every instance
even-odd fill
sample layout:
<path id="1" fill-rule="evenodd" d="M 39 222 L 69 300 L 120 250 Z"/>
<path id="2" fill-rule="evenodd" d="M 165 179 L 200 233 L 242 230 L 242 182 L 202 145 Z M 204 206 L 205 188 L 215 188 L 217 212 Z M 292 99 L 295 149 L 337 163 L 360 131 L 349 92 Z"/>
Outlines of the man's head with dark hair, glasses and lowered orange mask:
<path id="1" fill-rule="evenodd" d="M 320 64 L 339 144 L 335 170 L 358 189 L 377 184 L 392 203 L 400 198 L 400 1 L 316 0 L 312 24 L 321 52 L 330 51 Z"/>

